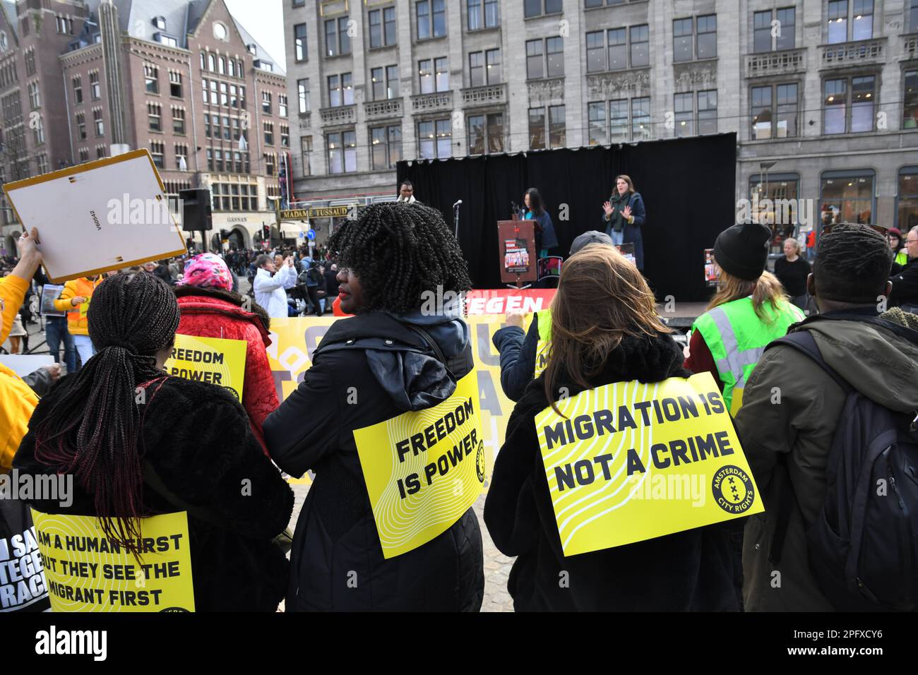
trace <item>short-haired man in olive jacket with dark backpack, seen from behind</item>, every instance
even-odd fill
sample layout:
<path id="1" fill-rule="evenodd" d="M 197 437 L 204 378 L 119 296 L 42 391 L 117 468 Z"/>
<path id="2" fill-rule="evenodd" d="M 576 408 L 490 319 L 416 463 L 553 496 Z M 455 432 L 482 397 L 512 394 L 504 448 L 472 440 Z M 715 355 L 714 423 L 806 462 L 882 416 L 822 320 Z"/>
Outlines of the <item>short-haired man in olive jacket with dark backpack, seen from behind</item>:
<path id="1" fill-rule="evenodd" d="M 918 317 L 883 311 L 891 264 L 871 226 L 827 226 L 821 314 L 746 383 L 735 425 L 766 505 L 745 526 L 747 611 L 918 606 Z"/>

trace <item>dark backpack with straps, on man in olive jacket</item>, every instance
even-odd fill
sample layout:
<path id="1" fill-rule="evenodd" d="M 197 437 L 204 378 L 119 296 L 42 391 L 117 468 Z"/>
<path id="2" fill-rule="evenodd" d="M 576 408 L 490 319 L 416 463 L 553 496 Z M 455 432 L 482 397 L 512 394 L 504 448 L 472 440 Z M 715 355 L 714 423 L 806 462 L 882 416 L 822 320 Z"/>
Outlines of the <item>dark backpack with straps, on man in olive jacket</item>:
<path id="1" fill-rule="evenodd" d="M 836 610 L 918 609 L 918 418 L 890 411 L 852 388 L 825 363 L 809 331 L 768 346 L 775 344 L 812 358 L 847 395 L 829 450 L 825 501 L 816 522 L 806 523 L 813 577 Z M 779 494 L 769 556 L 776 564 L 794 500 L 789 477 Z"/>

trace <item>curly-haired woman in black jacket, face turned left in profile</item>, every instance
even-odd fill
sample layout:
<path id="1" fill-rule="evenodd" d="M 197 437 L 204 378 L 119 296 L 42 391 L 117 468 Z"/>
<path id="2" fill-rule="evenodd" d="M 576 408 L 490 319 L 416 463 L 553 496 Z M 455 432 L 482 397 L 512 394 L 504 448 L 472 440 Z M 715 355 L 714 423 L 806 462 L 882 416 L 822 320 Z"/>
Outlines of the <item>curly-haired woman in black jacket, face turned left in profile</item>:
<path id="1" fill-rule="evenodd" d="M 462 252 L 440 212 L 417 202 L 366 208 L 329 247 L 341 309 L 355 316 L 330 327 L 302 384 L 263 425 L 279 467 L 316 475 L 294 535 L 286 609 L 476 612 L 484 570 L 475 512 L 386 559 L 353 435 L 437 405 L 472 371 L 460 302 L 425 302 L 471 287 Z"/>

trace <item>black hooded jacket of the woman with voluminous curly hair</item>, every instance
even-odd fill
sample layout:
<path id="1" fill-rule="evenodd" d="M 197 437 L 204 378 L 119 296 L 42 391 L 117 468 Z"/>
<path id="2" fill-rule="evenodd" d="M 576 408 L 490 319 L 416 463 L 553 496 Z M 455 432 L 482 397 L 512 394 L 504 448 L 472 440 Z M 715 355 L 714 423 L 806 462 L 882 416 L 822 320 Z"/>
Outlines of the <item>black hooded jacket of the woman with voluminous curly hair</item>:
<path id="1" fill-rule="evenodd" d="M 441 342 L 453 377 L 416 332 L 374 312 L 337 321 L 299 388 L 264 422 L 277 465 L 316 473 L 299 514 L 286 610 L 476 612 L 484 594 L 481 531 L 469 509 L 423 546 L 386 560 L 353 431 L 448 398 L 473 367 L 461 340 Z M 356 404 L 353 396 L 356 395 Z M 381 452 L 388 452 L 380 448 Z"/>

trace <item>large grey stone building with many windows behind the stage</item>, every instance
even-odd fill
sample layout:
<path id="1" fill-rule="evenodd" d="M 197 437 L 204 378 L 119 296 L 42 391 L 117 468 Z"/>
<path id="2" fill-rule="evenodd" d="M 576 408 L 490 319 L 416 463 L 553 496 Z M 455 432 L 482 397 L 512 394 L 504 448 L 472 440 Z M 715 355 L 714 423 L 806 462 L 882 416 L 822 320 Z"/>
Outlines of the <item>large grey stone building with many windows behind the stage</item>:
<path id="1" fill-rule="evenodd" d="M 738 208 L 918 224 L 918 0 L 283 2 L 297 197 L 392 195 L 399 159 L 734 131 Z"/>

